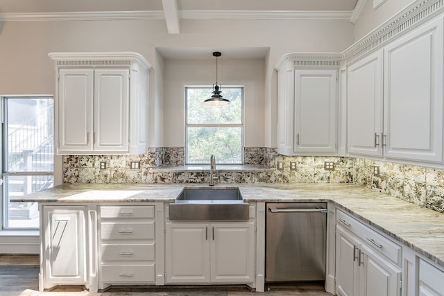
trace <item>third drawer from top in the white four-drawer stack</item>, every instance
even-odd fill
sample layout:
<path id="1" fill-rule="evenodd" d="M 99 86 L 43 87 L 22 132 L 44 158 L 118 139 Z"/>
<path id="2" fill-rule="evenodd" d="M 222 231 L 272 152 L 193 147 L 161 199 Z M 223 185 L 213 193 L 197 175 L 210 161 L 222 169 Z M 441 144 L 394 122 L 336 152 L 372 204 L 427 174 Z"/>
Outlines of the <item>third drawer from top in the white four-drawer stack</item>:
<path id="1" fill-rule="evenodd" d="M 103 244 L 102 261 L 154 261 L 154 243 L 146 245 Z"/>

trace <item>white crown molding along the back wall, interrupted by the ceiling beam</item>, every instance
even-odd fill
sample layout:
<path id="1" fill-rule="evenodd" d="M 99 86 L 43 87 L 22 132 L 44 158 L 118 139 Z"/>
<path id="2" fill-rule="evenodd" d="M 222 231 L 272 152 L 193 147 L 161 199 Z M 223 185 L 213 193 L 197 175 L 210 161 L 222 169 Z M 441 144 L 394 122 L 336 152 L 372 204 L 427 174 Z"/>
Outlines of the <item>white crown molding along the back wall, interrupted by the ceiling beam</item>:
<path id="1" fill-rule="evenodd" d="M 178 10 L 180 19 L 346 19 L 351 11 Z M 6 12 L 3 21 L 108 21 L 165 19 L 163 10 L 94 12 Z"/>

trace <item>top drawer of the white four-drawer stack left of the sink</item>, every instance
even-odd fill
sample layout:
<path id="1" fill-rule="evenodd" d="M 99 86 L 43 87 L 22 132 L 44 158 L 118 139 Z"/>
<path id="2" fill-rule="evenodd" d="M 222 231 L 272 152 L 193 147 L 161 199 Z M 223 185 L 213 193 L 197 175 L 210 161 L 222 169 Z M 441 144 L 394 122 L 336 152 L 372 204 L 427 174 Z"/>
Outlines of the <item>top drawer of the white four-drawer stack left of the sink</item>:
<path id="1" fill-rule="evenodd" d="M 154 206 L 103 206 L 100 207 L 100 215 L 103 219 L 154 219 Z"/>

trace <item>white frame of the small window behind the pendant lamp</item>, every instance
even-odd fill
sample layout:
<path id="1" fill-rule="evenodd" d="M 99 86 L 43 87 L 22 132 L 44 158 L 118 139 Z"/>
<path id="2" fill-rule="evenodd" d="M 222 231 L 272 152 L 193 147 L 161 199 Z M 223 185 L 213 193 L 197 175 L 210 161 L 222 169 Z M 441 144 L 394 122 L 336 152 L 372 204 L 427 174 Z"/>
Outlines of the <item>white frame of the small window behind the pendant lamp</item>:
<path id="1" fill-rule="evenodd" d="M 188 123 L 188 92 L 187 89 L 209 89 L 212 91 L 213 87 L 209 85 L 185 85 L 184 87 L 184 110 L 185 110 L 185 165 L 187 166 L 199 166 L 199 165 L 209 165 L 210 164 L 210 157 L 208 158 L 207 162 L 202 163 L 196 163 L 188 162 L 188 149 L 187 149 L 187 143 L 188 143 L 188 128 L 241 128 L 241 162 L 240 163 L 220 163 L 218 162 L 218 159 L 216 157 L 216 164 L 218 165 L 244 165 L 244 143 L 245 143 L 245 121 L 244 121 L 244 100 L 245 100 L 245 86 L 244 85 L 224 85 L 223 89 L 241 89 L 241 123 Z M 223 91 L 222 89 L 222 91 Z M 203 102 L 202 102 L 203 103 Z M 216 107 L 216 106 L 215 106 Z"/>

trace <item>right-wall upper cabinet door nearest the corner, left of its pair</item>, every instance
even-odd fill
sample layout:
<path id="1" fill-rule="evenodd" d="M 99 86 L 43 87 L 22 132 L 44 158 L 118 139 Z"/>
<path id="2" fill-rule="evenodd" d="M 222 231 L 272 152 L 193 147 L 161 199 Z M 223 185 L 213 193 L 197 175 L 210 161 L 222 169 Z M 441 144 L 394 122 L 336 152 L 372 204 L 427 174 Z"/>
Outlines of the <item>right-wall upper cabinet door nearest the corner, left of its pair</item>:
<path id="1" fill-rule="evenodd" d="M 382 51 L 348 67 L 348 153 L 382 156 Z"/>

